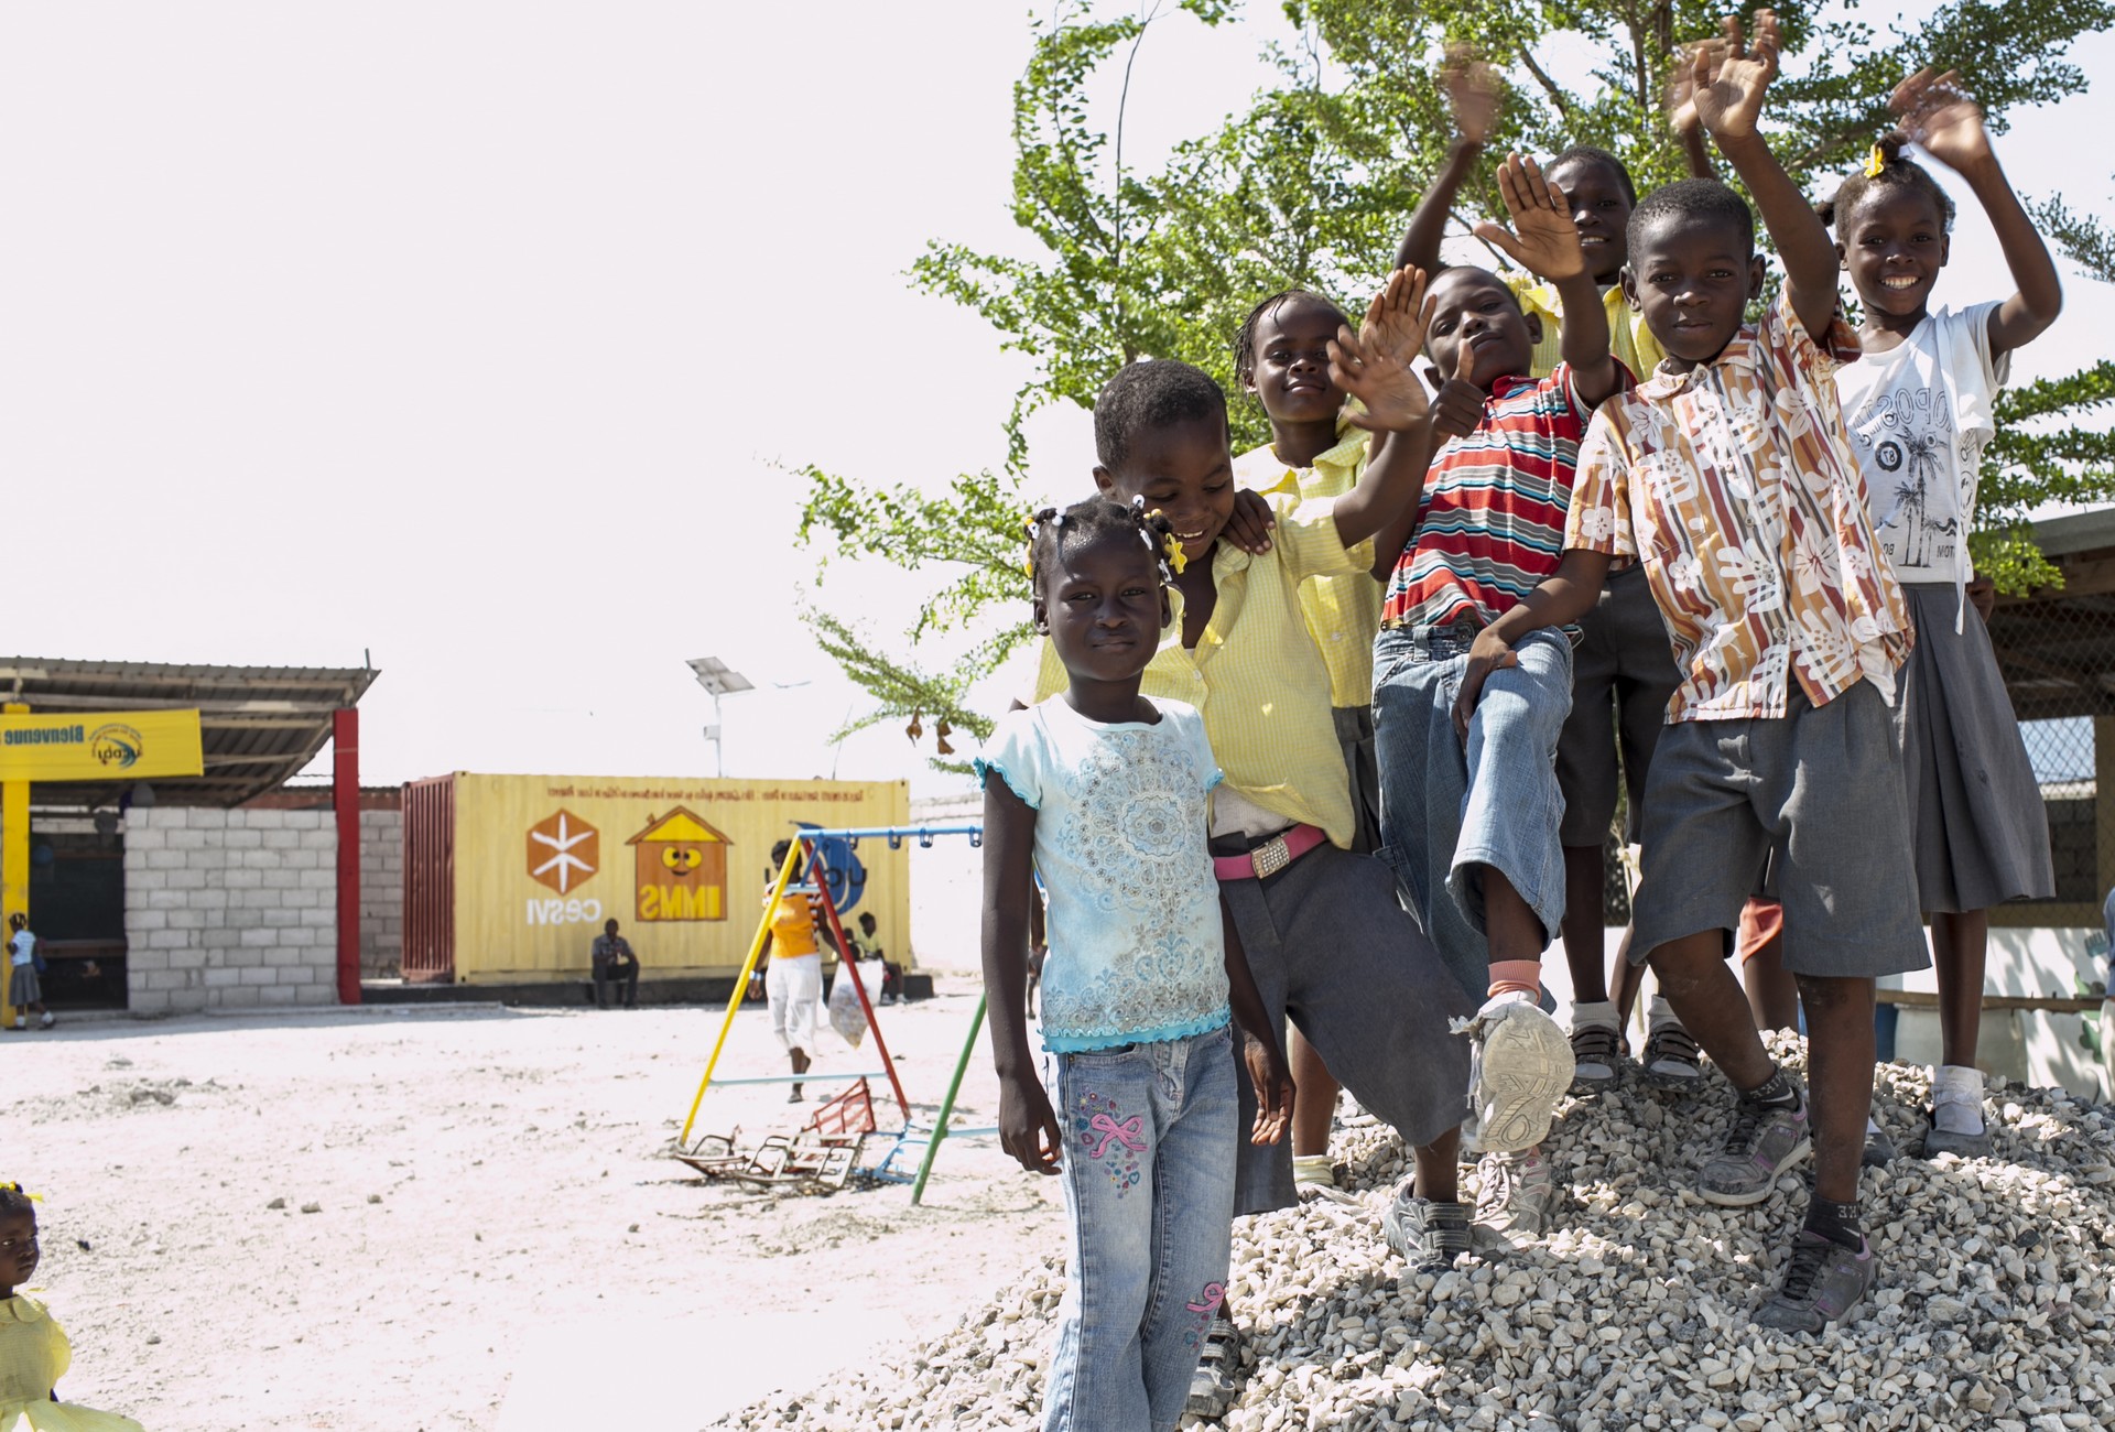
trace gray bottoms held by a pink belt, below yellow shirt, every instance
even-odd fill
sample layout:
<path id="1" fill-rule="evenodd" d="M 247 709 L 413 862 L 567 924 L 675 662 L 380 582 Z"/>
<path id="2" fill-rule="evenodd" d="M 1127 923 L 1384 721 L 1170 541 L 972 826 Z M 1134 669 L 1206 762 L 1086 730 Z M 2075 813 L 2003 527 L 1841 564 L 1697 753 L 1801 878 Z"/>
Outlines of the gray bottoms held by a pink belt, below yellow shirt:
<path id="1" fill-rule="evenodd" d="M 1468 1041 L 1447 1022 L 1476 1013 L 1476 1003 L 1402 910 L 1379 859 L 1322 844 L 1275 876 L 1222 880 L 1218 891 L 1271 1028 L 1290 1017 L 1351 1098 L 1411 1149 L 1461 1123 Z M 1292 1140 L 1248 1142 L 1256 1091 L 1246 1064 L 1239 1085 L 1233 1212 L 1292 1208 Z"/>

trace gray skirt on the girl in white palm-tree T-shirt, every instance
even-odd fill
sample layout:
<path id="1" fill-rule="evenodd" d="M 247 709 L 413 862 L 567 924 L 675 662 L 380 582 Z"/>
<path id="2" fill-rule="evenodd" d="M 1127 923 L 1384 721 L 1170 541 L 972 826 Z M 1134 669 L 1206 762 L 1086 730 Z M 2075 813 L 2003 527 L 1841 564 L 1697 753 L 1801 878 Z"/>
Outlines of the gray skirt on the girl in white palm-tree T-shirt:
<path id="1" fill-rule="evenodd" d="M 1988 910 L 2056 895 L 2049 816 L 2020 719 L 1969 607 L 1954 632 L 1952 582 L 1904 582 L 1916 645 L 1901 668 L 1895 723 L 1916 844 L 1918 905 Z"/>

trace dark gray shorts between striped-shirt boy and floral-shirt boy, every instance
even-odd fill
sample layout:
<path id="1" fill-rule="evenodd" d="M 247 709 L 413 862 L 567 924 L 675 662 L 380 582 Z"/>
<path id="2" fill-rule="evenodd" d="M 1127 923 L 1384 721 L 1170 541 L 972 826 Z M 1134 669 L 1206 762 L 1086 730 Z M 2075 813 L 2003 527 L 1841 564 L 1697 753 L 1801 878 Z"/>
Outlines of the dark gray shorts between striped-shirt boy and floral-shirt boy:
<path id="1" fill-rule="evenodd" d="M 1565 819 L 1561 846 L 1607 842 L 1616 821 L 1616 753 L 1622 753 L 1624 840 L 1643 829 L 1645 772 L 1667 726 L 1667 700 L 1681 685 L 1660 605 L 1643 563 L 1612 571 L 1571 647 L 1571 715 L 1557 736 L 1557 789 Z"/>

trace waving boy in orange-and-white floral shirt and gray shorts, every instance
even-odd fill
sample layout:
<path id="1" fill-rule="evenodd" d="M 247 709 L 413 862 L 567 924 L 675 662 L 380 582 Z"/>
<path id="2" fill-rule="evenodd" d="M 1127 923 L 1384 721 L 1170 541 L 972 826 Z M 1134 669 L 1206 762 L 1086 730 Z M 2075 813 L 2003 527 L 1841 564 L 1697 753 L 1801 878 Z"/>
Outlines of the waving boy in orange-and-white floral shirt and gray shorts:
<path id="1" fill-rule="evenodd" d="M 1857 353 L 1836 309 L 1836 250 L 1755 131 L 1774 74 L 1770 11 L 1753 47 L 1696 57 L 1698 114 L 1755 195 L 1785 288 L 1762 324 L 1743 324 L 1762 258 L 1753 216 L 1724 184 L 1684 180 L 1637 205 L 1624 288 L 1667 362 L 1595 415 L 1565 558 L 1478 637 L 1461 700 L 1474 706 L 1512 641 L 1584 613 L 1614 561 L 1643 563 L 1684 683 L 1648 774 L 1633 958 L 1739 1089 L 1698 1193 L 1760 1204 L 1815 1151 L 1806 1227 L 1755 1320 L 1821 1330 L 1876 1275 L 1857 1216 L 1874 977 L 1927 956 L 1908 842 L 1874 840 L 1908 829 L 1889 706 L 1910 620 L 1836 402 L 1834 372 Z M 1766 857 L 1813 1036 L 1810 1106 L 1724 962 Z"/>

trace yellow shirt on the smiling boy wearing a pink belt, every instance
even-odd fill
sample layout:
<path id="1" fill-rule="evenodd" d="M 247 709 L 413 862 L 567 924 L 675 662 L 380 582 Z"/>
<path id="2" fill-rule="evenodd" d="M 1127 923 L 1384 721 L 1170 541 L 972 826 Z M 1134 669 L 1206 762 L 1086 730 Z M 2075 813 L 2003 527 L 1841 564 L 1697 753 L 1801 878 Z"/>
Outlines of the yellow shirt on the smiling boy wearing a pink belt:
<path id="1" fill-rule="evenodd" d="M 1229 787 L 1286 821 L 1322 827 L 1337 848 L 1349 850 L 1351 787 L 1330 717 L 1328 668 L 1307 635 L 1301 584 L 1364 575 L 1373 567 L 1373 541 L 1343 546 L 1332 497 L 1307 501 L 1269 493 L 1267 499 L 1277 516 L 1271 550 L 1250 556 L 1225 539 L 1214 548 L 1218 601 L 1195 651 L 1182 649 L 1182 592 L 1170 590 L 1174 622 L 1161 632 L 1140 690 L 1203 713 L 1206 738 Z M 1064 664 L 1045 639 L 1036 700 L 1066 685 Z"/>

